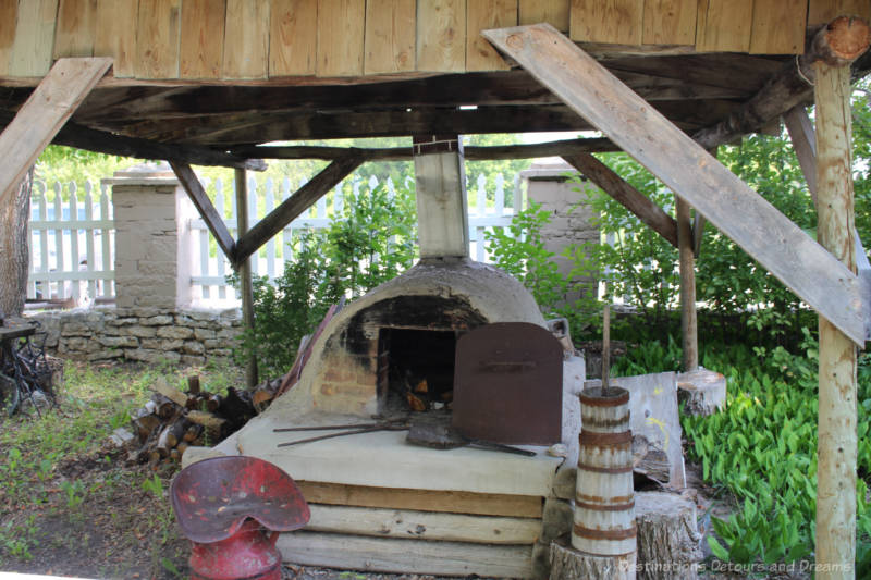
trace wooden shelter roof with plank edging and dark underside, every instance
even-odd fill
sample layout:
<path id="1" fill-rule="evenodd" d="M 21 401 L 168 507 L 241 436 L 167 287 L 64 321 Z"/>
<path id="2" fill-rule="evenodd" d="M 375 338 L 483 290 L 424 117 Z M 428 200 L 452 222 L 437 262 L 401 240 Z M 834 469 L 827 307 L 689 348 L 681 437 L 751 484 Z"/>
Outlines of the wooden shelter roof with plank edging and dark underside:
<path id="1" fill-rule="evenodd" d="M 592 128 L 480 35 L 545 21 L 698 135 L 778 76 L 793 77 L 793 104 L 810 103 L 798 55 L 844 13 L 871 17 L 871 2 L 2 0 L 0 122 L 53 60 L 93 55 L 113 70 L 54 143 L 209 163 L 209 149 L 275 140 Z M 855 65 L 868 69 L 868 55 Z"/>

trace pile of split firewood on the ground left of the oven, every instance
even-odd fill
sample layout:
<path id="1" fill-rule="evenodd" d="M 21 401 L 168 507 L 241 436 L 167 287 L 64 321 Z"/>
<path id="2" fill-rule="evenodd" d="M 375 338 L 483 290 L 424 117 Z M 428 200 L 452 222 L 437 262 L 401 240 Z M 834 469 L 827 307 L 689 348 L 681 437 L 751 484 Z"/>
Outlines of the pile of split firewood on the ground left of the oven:
<path id="1" fill-rule="evenodd" d="M 262 411 L 279 385 L 280 380 L 253 391 L 231 386 L 219 395 L 200 390 L 196 375 L 188 378 L 186 392 L 159 378 L 151 385 L 151 399 L 131 418 L 128 460 L 156 468 L 163 461 L 181 461 L 192 445 L 216 445 Z"/>

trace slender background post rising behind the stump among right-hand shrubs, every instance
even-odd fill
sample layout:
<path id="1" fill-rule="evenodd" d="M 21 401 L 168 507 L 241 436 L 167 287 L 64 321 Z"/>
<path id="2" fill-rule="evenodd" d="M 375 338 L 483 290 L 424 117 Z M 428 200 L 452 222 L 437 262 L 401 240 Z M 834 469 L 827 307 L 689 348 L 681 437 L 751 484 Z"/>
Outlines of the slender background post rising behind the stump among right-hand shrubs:
<path id="1" fill-rule="evenodd" d="M 689 203 L 675 196 L 677 247 L 680 252 L 680 336 L 684 372 L 699 368 L 699 336 L 696 323 L 696 258 Z"/>

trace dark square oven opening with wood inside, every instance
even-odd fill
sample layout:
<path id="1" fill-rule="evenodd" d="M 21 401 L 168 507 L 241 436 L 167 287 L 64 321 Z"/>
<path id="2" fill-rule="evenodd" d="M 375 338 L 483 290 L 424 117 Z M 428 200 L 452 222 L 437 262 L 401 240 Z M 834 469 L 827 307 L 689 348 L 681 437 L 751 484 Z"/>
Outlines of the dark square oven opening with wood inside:
<path id="1" fill-rule="evenodd" d="M 381 329 L 379 412 L 449 412 L 454 398 L 456 338 L 454 331 Z"/>

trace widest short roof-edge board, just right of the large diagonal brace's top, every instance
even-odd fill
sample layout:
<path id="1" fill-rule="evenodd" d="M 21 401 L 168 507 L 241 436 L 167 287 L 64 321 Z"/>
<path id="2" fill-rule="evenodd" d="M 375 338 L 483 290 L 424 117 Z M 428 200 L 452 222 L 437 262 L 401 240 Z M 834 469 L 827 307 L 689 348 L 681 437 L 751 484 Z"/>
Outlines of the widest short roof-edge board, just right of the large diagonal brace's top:
<path id="1" fill-rule="evenodd" d="M 569 37 L 578 42 L 640 45 L 645 0 L 572 0 Z"/>

